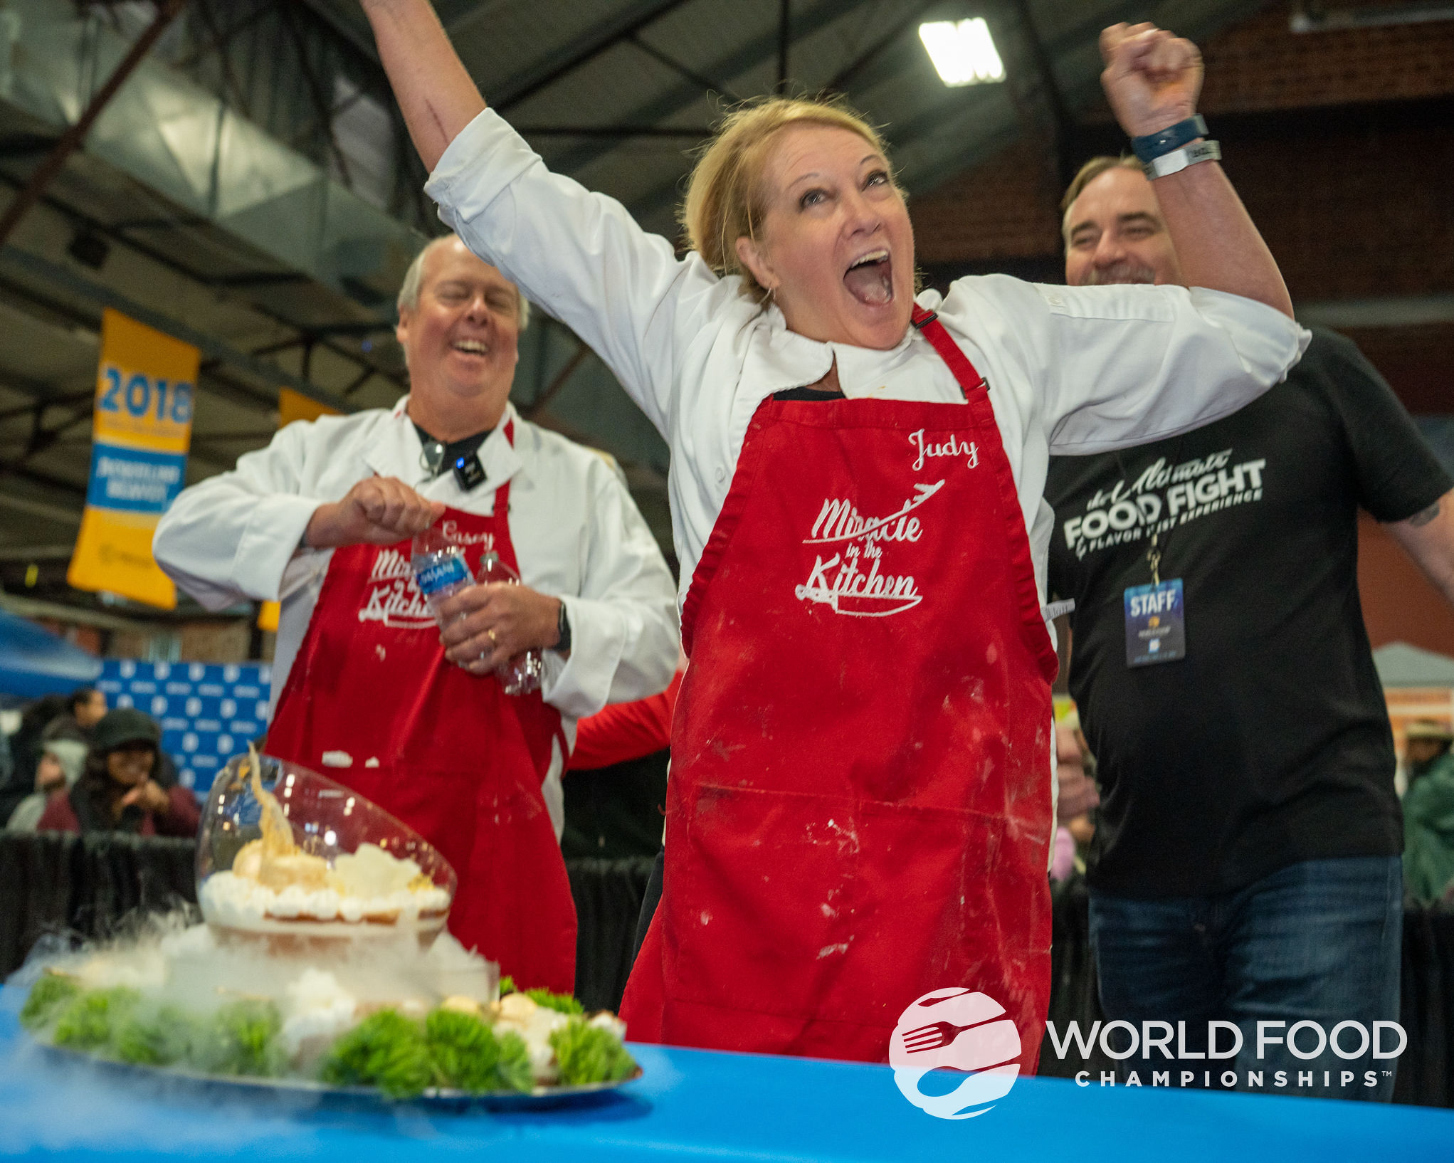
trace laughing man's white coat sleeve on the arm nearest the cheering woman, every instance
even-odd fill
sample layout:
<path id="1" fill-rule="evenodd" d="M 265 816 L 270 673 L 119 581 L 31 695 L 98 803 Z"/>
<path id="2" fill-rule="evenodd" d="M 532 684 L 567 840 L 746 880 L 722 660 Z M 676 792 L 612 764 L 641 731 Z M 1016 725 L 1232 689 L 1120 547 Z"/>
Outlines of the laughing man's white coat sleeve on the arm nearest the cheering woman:
<path id="1" fill-rule="evenodd" d="M 625 481 L 601 461 L 590 483 L 580 593 L 561 596 L 570 656 L 558 670 L 547 666 L 541 691 L 570 718 L 660 693 L 676 672 L 680 645 L 676 583 Z"/>

